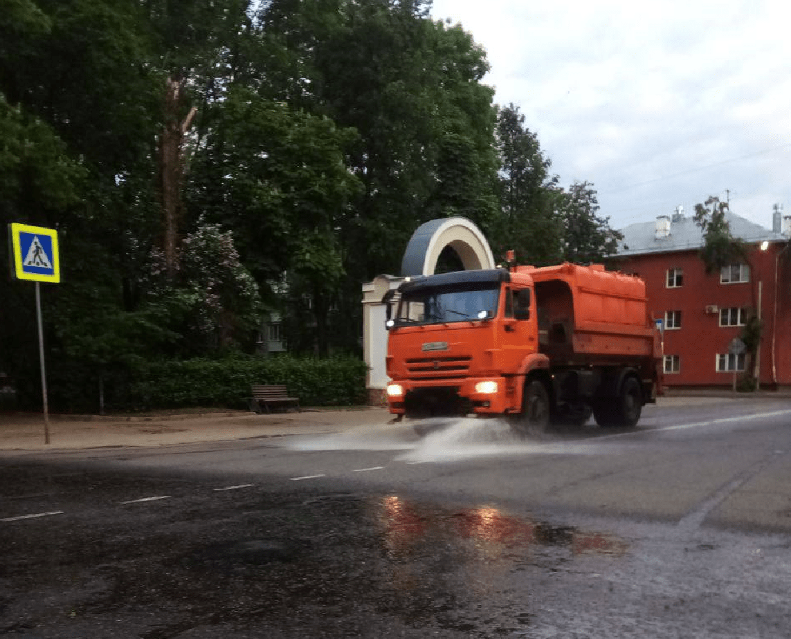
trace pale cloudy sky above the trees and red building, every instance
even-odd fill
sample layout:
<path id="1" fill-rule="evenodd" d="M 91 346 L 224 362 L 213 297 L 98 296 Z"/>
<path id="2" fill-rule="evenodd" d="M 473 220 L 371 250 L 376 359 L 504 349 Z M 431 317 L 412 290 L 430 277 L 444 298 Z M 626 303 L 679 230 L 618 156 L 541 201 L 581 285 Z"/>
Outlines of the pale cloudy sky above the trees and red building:
<path id="1" fill-rule="evenodd" d="M 622 228 L 709 195 L 791 215 L 791 5 L 775 0 L 434 0 L 471 32 L 566 186 Z"/>

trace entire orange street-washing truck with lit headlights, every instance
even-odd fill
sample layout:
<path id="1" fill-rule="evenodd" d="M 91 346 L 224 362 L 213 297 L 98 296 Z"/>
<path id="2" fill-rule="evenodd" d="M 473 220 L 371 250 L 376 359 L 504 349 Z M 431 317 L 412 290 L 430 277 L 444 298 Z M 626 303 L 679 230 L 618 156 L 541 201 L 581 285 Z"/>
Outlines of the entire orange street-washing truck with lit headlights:
<path id="1" fill-rule="evenodd" d="M 633 426 L 660 391 L 645 283 L 601 265 L 407 278 L 387 301 L 388 406 L 402 417 Z"/>

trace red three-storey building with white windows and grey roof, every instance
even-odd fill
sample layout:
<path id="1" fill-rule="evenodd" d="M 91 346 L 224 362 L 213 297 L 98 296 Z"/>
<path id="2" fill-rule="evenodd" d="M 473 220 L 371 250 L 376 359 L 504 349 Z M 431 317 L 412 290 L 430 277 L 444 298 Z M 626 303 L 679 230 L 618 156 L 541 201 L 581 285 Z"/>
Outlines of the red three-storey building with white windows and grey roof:
<path id="1" fill-rule="evenodd" d="M 761 388 L 791 387 L 791 218 L 785 233 L 778 218 L 770 231 L 726 214 L 747 257 L 711 274 L 699 256 L 701 229 L 690 217 L 660 216 L 622 229 L 619 270 L 645 280 L 651 316 L 664 326 L 666 386 L 730 387 L 736 372 L 754 376 Z M 751 315 L 763 325 L 754 360 L 731 347 Z"/>

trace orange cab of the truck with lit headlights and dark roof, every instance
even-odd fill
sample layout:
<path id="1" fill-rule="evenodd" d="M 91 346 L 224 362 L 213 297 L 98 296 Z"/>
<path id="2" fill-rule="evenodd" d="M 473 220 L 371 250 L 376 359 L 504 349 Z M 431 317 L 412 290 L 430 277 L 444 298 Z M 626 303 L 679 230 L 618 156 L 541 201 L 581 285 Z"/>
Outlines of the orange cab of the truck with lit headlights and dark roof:
<path id="1" fill-rule="evenodd" d="M 538 355 L 529 275 L 493 269 L 414 278 L 400 286 L 388 330 L 393 413 L 520 412 L 518 373 Z"/>

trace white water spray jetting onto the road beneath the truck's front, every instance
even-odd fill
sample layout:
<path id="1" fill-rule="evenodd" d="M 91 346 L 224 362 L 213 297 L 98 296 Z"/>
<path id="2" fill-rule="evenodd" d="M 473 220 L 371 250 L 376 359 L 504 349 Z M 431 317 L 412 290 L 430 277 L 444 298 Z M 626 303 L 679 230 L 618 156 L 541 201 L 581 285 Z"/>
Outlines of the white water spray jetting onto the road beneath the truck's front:
<path id="1" fill-rule="evenodd" d="M 434 418 L 363 426 L 323 437 L 290 440 L 287 448 L 301 451 L 395 450 L 405 462 L 459 461 L 504 455 L 591 455 L 603 450 L 594 443 L 548 435 L 525 440 L 515 435 L 502 419 Z"/>

